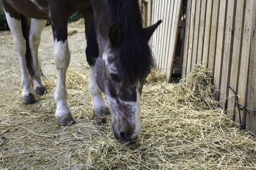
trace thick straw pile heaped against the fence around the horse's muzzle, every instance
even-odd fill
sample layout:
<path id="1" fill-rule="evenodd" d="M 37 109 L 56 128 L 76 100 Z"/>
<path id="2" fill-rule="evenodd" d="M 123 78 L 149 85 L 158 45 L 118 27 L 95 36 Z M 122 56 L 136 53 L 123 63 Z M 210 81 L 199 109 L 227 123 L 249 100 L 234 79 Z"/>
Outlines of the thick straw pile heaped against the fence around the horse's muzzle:
<path id="1" fill-rule="evenodd" d="M 117 142 L 109 118 L 87 143 L 85 160 L 96 169 L 256 168 L 255 138 L 238 131 L 217 108 L 210 76 L 203 65 L 175 86 L 164 83 L 158 72 L 150 75 L 138 141 L 129 146 Z"/>

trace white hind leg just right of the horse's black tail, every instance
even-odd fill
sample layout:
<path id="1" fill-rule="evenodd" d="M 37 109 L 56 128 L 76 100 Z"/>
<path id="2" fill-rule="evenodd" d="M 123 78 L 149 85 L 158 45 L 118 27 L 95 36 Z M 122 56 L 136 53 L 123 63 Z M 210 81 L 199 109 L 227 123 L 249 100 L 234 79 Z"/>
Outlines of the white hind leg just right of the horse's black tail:
<path id="1" fill-rule="evenodd" d="M 46 20 L 31 19 L 30 27 L 30 49 L 32 55 L 32 67 L 34 70 L 34 90 L 38 95 L 44 95 L 46 87 L 42 81 L 38 62 L 38 48 L 41 41 L 41 33 L 46 25 Z"/>

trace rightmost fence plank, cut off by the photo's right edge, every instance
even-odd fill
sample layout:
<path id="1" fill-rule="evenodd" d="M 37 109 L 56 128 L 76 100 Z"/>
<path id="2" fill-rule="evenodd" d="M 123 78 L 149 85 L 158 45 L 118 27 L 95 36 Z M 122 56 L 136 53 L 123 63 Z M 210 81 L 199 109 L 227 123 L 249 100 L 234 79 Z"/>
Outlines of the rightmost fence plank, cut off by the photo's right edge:
<path id="1" fill-rule="evenodd" d="M 253 5 L 253 28 L 251 30 L 251 52 L 250 52 L 250 69 L 249 69 L 249 86 L 247 107 L 256 109 L 256 0 Z M 256 135 L 256 112 L 246 112 L 246 130 Z"/>

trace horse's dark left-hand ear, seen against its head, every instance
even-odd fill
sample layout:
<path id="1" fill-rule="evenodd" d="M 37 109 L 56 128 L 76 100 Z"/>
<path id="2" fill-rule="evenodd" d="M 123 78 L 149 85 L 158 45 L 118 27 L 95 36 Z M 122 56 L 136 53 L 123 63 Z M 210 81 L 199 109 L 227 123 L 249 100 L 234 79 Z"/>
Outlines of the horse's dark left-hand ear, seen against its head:
<path id="1" fill-rule="evenodd" d="M 109 40 L 113 48 L 119 46 L 123 39 L 123 29 L 121 23 L 114 23 L 109 29 Z"/>

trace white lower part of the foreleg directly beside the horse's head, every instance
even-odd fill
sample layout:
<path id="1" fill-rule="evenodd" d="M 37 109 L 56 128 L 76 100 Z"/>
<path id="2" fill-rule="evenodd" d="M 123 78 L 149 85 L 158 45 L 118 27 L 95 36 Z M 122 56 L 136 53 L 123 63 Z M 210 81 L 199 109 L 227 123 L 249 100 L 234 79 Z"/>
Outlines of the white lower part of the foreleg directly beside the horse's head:
<path id="1" fill-rule="evenodd" d="M 95 67 L 90 66 L 90 94 L 93 99 L 93 110 L 108 108 L 102 96 L 102 91 L 98 88 L 95 78 Z"/>

